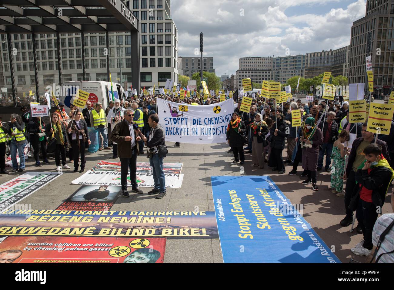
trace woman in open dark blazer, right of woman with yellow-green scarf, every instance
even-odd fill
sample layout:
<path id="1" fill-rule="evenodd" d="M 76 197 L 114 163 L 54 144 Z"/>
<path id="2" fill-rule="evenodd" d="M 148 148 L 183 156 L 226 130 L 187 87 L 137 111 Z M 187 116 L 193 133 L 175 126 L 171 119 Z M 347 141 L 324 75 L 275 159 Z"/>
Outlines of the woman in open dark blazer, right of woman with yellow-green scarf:
<path id="1" fill-rule="evenodd" d="M 75 119 L 72 120 L 67 126 L 67 132 L 69 133 L 68 138 L 71 141 L 71 148 L 74 159 L 74 172 L 78 171 L 78 159 L 81 154 L 81 170 L 84 172 L 85 169 L 85 143 L 90 145 L 89 132 L 87 131 L 87 123 L 81 118 L 82 112 L 78 111 L 75 114 Z"/>

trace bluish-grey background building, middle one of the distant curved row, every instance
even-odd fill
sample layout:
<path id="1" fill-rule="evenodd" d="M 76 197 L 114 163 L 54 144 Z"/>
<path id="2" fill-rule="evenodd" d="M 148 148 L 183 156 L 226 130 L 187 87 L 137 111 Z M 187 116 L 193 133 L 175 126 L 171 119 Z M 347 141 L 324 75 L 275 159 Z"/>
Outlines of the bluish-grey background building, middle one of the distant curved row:
<path id="1" fill-rule="evenodd" d="M 291 77 L 303 76 L 305 58 L 305 54 L 273 57 L 271 79 L 285 84 Z"/>

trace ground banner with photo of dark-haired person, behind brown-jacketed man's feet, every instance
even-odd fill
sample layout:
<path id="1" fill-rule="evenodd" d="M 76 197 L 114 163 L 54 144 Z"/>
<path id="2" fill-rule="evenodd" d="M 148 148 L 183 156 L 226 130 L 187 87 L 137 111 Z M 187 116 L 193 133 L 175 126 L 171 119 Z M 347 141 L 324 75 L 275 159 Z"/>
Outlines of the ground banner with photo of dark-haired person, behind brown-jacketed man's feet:
<path id="1" fill-rule="evenodd" d="M 110 210 L 120 194 L 119 186 L 82 185 L 56 210 Z"/>

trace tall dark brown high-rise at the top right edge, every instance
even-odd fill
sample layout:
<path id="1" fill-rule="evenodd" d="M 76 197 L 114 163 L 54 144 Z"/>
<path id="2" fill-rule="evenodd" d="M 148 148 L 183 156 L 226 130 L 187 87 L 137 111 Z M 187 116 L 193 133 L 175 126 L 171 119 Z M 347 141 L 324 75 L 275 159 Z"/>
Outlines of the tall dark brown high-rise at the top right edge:
<path id="1" fill-rule="evenodd" d="M 349 53 L 349 83 L 365 83 L 366 57 L 371 55 L 374 89 L 388 94 L 394 85 L 394 2 L 366 2 L 365 17 L 353 22 Z"/>

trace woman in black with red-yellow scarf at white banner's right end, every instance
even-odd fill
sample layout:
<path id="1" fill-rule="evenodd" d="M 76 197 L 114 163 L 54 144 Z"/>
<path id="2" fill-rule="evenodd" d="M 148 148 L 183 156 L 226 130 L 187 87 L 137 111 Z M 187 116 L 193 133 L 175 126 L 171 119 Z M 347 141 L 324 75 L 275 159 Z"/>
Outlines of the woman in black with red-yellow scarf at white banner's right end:
<path id="1" fill-rule="evenodd" d="M 240 164 L 245 162 L 245 153 L 243 153 L 243 143 L 245 143 L 244 137 L 242 136 L 246 131 L 245 123 L 241 121 L 237 112 L 232 114 L 232 119 L 227 126 L 227 143 L 230 144 L 232 148 L 232 153 L 234 154 L 234 161 L 232 163 L 237 163 L 238 152 L 240 153 Z"/>

